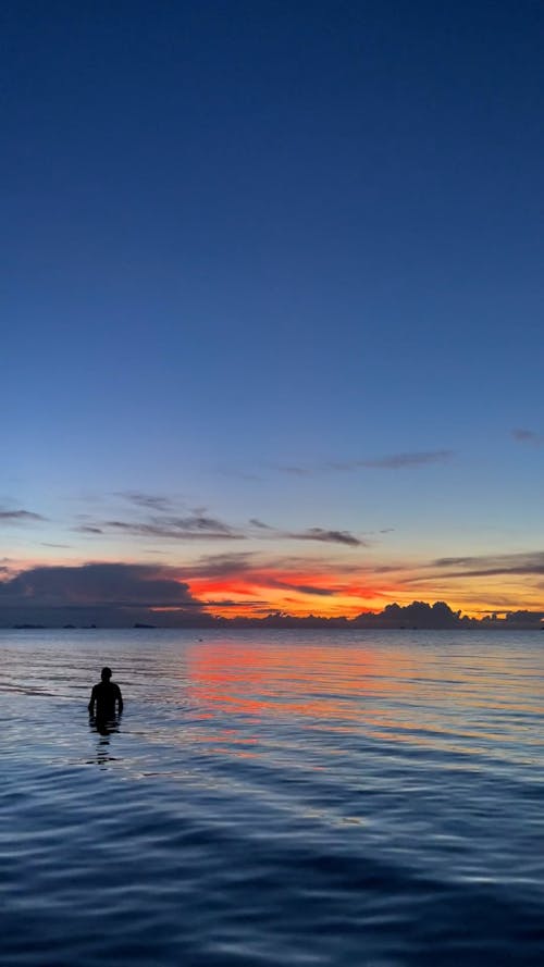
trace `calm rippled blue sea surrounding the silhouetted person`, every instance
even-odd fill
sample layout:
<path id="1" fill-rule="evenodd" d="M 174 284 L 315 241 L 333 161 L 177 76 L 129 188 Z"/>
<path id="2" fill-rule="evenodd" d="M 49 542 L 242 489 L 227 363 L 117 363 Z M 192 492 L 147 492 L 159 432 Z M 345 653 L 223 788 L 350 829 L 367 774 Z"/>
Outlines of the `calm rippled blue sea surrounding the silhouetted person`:
<path id="1" fill-rule="evenodd" d="M 541 633 L 10 631 L 0 658 L 2 965 L 544 965 Z"/>

